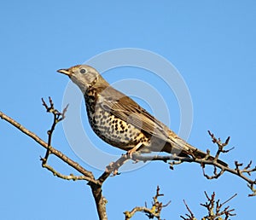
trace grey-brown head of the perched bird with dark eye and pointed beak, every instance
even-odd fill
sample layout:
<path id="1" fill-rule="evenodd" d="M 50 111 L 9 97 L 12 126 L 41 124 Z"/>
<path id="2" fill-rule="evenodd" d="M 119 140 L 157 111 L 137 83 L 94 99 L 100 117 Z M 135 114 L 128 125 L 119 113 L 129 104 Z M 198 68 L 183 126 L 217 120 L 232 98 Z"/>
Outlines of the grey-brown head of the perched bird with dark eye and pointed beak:
<path id="1" fill-rule="evenodd" d="M 57 70 L 57 72 L 61 72 L 71 78 L 73 83 L 79 86 L 83 94 L 94 84 L 108 84 L 95 68 L 87 65 L 77 65 L 68 69 Z"/>

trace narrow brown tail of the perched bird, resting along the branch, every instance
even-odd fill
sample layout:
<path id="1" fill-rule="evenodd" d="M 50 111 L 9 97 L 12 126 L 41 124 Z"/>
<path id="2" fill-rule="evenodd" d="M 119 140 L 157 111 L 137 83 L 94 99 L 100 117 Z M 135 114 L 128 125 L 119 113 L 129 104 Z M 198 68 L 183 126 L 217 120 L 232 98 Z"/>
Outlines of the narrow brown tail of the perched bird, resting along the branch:
<path id="1" fill-rule="evenodd" d="M 165 147 L 163 149 L 167 153 L 176 153 L 179 156 L 186 156 L 186 157 L 191 157 L 191 155 L 193 154 L 195 158 L 198 158 L 198 159 L 204 159 L 207 157 L 207 153 L 201 151 L 198 148 L 193 147 L 188 142 L 185 142 L 183 139 L 181 139 L 179 136 L 174 136 L 174 137 L 171 136 L 168 141 L 171 143 L 172 147 L 171 146 L 170 146 L 171 148 Z M 209 156 L 207 159 L 213 160 L 214 157 Z M 218 159 L 217 162 L 220 165 L 228 166 L 221 159 Z"/>

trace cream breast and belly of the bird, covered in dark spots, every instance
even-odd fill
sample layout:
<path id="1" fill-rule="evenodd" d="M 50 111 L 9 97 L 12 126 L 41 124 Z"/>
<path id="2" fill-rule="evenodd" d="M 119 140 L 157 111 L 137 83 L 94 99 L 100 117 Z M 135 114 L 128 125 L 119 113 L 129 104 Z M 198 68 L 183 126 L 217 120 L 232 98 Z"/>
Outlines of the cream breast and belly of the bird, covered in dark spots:
<path id="1" fill-rule="evenodd" d="M 84 93 L 86 111 L 92 130 L 103 141 L 110 145 L 129 150 L 137 145 L 138 142 L 148 142 L 148 138 L 143 135 L 141 130 L 134 125 L 119 119 L 110 109 L 101 101 L 117 101 L 113 97 L 103 97 L 106 94 L 105 89 L 98 92 L 96 88 L 91 87 Z"/>

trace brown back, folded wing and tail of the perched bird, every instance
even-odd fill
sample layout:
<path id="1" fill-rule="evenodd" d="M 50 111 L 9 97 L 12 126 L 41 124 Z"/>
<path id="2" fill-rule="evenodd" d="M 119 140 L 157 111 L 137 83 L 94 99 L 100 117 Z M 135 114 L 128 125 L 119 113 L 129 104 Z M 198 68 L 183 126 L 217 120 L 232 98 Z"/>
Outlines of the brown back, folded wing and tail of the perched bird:
<path id="1" fill-rule="evenodd" d="M 206 156 L 206 153 L 191 146 L 188 142 L 185 142 L 165 124 L 155 119 L 154 116 L 143 109 L 143 107 L 140 107 L 137 102 L 133 101 L 128 96 L 125 96 L 118 90 L 114 90 L 112 87 L 108 87 L 107 89 L 106 87 L 102 88 L 100 99 L 100 105 L 105 108 L 106 111 L 110 111 L 119 119 L 125 120 L 151 136 L 156 136 L 165 142 L 169 142 L 169 148 L 164 148 L 164 151 L 171 153 L 172 148 L 176 148 L 177 152 L 181 151 L 183 155 L 191 154 L 192 150 L 195 156 L 200 158 Z M 210 159 L 213 158 L 210 157 Z M 218 163 L 227 166 L 226 163 L 219 159 Z"/>

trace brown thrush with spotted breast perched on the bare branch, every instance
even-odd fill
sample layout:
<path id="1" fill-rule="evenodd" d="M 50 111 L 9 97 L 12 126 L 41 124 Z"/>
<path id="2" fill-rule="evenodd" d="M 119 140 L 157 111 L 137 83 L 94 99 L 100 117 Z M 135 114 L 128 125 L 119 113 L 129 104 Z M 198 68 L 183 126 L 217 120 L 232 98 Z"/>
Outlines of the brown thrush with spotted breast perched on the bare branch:
<path id="1" fill-rule="evenodd" d="M 90 127 L 111 146 L 130 155 L 166 152 L 180 157 L 214 159 L 177 136 L 129 96 L 115 90 L 94 67 L 76 65 L 57 72 L 78 85 L 84 95 Z M 220 159 L 217 162 L 227 166 Z"/>

